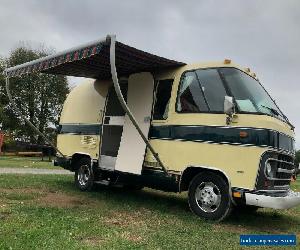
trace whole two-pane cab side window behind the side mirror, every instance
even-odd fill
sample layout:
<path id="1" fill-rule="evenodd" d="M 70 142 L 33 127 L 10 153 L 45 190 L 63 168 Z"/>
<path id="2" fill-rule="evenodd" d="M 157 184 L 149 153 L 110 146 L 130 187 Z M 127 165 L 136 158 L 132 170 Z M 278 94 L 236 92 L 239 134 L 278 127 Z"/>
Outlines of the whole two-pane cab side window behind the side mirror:
<path id="1" fill-rule="evenodd" d="M 222 79 L 216 69 L 186 72 L 180 82 L 177 111 L 223 112 L 226 95 Z"/>

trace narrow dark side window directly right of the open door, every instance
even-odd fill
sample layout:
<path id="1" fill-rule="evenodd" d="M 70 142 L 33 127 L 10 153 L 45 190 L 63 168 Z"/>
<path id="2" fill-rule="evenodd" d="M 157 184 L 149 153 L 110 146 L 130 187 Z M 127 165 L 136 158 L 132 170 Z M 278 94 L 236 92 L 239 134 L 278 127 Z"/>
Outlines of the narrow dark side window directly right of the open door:
<path id="1" fill-rule="evenodd" d="M 172 85 L 173 79 L 158 82 L 153 108 L 153 120 L 165 120 L 168 118 Z"/>

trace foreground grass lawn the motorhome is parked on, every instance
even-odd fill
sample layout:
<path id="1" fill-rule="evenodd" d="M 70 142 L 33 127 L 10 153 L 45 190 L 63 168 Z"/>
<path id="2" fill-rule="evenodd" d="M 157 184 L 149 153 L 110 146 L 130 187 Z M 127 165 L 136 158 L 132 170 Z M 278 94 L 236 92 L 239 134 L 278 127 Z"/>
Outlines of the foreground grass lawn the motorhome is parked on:
<path id="1" fill-rule="evenodd" d="M 209 223 L 190 212 L 186 194 L 84 193 L 72 176 L 0 175 L 0 249 L 240 249 L 247 233 L 296 233 L 299 241 L 299 225 L 300 207 Z"/>

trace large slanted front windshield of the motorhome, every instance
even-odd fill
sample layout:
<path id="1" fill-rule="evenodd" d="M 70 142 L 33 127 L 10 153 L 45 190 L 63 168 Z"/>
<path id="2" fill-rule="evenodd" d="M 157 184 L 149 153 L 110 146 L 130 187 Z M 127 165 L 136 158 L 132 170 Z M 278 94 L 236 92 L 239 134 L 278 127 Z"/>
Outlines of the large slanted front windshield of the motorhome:
<path id="1" fill-rule="evenodd" d="M 234 96 L 240 112 L 264 113 L 286 120 L 257 80 L 235 68 L 221 68 L 219 72 Z"/>

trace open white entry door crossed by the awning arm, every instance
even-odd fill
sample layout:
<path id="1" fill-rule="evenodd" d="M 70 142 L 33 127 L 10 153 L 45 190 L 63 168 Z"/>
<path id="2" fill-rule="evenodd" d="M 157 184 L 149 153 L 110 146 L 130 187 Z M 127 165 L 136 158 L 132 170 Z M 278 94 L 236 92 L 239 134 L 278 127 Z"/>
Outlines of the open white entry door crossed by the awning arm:
<path id="1" fill-rule="evenodd" d="M 145 135 L 150 128 L 153 89 L 154 79 L 149 72 L 133 74 L 128 79 L 127 105 Z M 145 150 L 145 142 L 125 115 L 115 170 L 141 174 Z"/>

